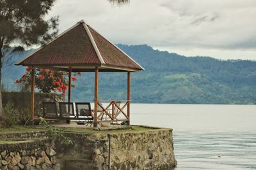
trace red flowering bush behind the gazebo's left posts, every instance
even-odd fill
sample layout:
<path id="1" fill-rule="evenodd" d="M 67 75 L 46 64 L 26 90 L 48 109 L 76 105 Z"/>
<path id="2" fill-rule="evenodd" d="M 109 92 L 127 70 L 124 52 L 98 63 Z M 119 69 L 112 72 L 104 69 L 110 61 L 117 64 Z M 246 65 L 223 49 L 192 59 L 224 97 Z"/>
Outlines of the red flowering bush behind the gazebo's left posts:
<path id="1" fill-rule="evenodd" d="M 74 73 L 72 81 L 76 81 L 77 75 L 81 75 L 81 72 Z M 26 72 L 20 79 L 17 79 L 15 83 L 22 85 L 24 89 L 30 89 L 31 87 L 31 67 L 26 67 Z M 74 84 L 71 84 L 75 87 Z M 50 69 L 35 69 L 35 87 L 40 92 L 56 93 L 59 92 L 63 96 L 66 95 L 68 89 L 68 73 L 62 71 L 53 71 Z"/>

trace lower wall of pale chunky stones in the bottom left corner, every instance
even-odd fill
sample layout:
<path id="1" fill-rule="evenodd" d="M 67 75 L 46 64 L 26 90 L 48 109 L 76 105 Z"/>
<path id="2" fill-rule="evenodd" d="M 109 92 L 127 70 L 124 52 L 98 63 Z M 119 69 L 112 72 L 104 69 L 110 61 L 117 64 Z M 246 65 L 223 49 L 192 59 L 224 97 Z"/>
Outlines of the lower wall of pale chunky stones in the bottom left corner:
<path id="1" fill-rule="evenodd" d="M 0 169 L 59 170 L 56 152 L 47 139 L 0 144 Z"/>

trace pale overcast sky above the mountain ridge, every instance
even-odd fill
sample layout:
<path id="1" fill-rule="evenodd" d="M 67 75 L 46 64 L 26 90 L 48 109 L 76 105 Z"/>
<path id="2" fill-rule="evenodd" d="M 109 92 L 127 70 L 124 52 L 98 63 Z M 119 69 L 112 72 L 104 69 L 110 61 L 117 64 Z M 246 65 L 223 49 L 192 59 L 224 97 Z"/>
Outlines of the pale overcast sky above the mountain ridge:
<path id="1" fill-rule="evenodd" d="M 256 60 L 256 0 L 57 0 L 49 15 L 60 15 L 60 32 L 83 19 L 113 43 Z"/>

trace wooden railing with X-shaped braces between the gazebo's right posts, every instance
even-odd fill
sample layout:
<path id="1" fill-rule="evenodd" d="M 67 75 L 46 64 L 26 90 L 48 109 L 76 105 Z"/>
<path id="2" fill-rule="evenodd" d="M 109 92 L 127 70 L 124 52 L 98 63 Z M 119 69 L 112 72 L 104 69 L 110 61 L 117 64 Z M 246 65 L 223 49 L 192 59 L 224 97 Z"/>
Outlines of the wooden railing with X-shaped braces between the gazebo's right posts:
<path id="1" fill-rule="evenodd" d="M 101 103 L 109 103 L 103 106 Z M 97 122 L 126 122 L 129 121 L 130 101 L 99 100 L 97 107 Z M 106 105 L 106 104 L 104 104 Z"/>

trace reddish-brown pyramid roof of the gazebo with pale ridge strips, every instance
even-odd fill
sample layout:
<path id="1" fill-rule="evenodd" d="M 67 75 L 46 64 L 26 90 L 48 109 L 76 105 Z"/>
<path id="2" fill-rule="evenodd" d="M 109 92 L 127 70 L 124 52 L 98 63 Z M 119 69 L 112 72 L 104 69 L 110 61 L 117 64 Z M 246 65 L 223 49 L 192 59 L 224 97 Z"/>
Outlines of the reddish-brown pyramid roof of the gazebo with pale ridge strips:
<path id="1" fill-rule="evenodd" d="M 136 61 L 101 36 L 84 20 L 52 39 L 16 65 L 48 67 L 61 71 L 140 71 Z"/>

